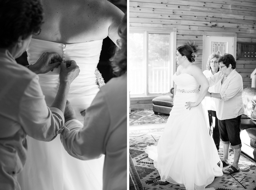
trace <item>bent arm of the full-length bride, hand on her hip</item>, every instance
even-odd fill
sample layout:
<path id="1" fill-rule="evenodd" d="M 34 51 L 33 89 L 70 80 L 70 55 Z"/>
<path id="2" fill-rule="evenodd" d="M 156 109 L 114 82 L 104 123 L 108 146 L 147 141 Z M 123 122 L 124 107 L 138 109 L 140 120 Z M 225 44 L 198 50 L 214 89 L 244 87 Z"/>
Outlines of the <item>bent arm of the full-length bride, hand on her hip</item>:
<path id="1" fill-rule="evenodd" d="M 208 82 L 207 78 L 204 76 L 201 69 L 197 65 L 192 64 L 190 71 L 191 71 L 192 76 L 195 78 L 195 80 L 201 85 L 199 97 L 198 97 L 197 101 L 195 102 L 195 105 L 198 106 L 202 102 L 202 100 L 204 100 L 204 97 L 206 96 L 206 93 L 208 92 L 209 82 Z"/>

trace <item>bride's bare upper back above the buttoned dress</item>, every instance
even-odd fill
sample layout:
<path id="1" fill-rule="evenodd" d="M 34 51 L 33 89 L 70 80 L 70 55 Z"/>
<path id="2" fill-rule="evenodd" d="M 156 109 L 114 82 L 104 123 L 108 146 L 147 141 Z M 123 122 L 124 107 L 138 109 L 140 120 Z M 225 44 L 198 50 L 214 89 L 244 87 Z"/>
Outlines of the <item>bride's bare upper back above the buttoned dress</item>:
<path id="1" fill-rule="evenodd" d="M 44 23 L 33 38 L 58 43 L 101 40 L 116 43 L 123 12 L 107 0 L 42 0 Z"/>

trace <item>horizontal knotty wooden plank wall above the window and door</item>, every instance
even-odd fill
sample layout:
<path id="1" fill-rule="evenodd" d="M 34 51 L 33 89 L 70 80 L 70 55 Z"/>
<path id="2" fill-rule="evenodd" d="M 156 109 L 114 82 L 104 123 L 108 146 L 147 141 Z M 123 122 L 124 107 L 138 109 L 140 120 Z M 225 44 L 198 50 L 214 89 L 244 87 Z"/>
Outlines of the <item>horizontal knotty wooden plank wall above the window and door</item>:
<path id="1" fill-rule="evenodd" d="M 130 28 L 177 29 L 177 47 L 186 41 L 198 45 L 202 65 L 203 32 L 236 32 L 237 42 L 256 42 L 255 0 L 130 0 Z M 205 63 L 204 63 L 205 64 Z M 237 60 L 244 87 L 251 87 L 254 60 Z"/>

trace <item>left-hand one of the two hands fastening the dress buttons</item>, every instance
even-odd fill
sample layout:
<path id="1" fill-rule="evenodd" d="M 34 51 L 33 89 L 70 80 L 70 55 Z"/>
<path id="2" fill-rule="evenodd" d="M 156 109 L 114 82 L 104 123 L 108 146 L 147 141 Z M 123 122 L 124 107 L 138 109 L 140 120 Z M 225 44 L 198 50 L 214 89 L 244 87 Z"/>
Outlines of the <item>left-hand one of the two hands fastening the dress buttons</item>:
<path id="1" fill-rule="evenodd" d="M 41 57 L 33 65 L 29 65 L 28 69 L 36 74 L 44 74 L 49 71 L 53 71 L 54 68 L 58 68 L 61 64 L 61 57 L 59 54 L 53 52 L 44 52 Z"/>

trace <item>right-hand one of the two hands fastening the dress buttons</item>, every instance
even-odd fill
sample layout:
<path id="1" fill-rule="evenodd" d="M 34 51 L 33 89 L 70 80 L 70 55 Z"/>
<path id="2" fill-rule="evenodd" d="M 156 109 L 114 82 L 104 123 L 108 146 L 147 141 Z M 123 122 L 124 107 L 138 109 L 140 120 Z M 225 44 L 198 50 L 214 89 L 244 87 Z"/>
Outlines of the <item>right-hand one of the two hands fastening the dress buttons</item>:
<path id="1" fill-rule="evenodd" d="M 74 60 L 68 60 L 66 63 L 61 63 L 61 71 L 60 71 L 60 84 L 61 83 L 69 83 L 79 75 L 80 69 L 79 66 L 76 65 Z"/>

